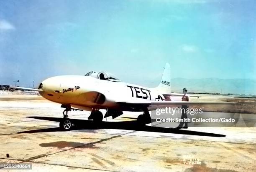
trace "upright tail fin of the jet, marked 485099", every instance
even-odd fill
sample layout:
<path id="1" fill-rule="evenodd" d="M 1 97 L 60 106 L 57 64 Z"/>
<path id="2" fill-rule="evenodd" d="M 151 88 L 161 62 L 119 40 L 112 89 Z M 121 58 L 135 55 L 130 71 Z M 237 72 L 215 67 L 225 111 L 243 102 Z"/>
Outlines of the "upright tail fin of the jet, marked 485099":
<path id="1" fill-rule="evenodd" d="M 160 84 L 155 88 L 158 91 L 171 93 L 171 67 L 166 63 Z"/>

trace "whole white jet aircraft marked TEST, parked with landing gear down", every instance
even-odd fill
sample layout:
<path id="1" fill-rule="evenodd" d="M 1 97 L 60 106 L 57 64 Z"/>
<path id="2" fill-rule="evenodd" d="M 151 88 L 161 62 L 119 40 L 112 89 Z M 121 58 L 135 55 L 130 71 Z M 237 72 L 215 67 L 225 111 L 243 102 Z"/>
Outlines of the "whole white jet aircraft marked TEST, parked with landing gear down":
<path id="1" fill-rule="evenodd" d="M 12 87 L 39 94 L 65 108 L 63 120 L 59 126 L 62 130 L 70 130 L 72 120 L 68 118 L 71 110 L 91 111 L 89 120 L 99 124 L 103 119 L 101 109 L 106 110 L 105 117 L 118 117 L 123 111 L 143 112 L 137 118 L 139 125 L 151 123 L 149 111 L 160 107 L 180 107 L 222 104 L 225 102 L 182 102 L 183 94 L 171 92 L 170 65 L 166 63 L 161 81 L 157 87 L 149 88 L 120 81 L 108 72 L 88 72 L 86 75 L 62 75 L 50 77 L 42 81 L 38 89 Z M 190 97 L 200 97 L 190 95 Z"/>

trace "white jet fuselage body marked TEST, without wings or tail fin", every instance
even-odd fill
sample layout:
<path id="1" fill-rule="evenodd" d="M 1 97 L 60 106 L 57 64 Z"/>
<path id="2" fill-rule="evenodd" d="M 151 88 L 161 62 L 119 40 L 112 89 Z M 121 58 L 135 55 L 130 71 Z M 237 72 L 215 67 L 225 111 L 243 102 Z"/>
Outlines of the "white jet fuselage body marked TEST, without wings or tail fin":
<path id="1" fill-rule="evenodd" d="M 63 75 L 44 80 L 39 93 L 46 99 L 83 110 L 119 108 L 118 102 L 164 101 L 163 93 L 125 82 L 100 80 L 91 76 Z M 172 97 L 172 101 L 181 101 Z"/>

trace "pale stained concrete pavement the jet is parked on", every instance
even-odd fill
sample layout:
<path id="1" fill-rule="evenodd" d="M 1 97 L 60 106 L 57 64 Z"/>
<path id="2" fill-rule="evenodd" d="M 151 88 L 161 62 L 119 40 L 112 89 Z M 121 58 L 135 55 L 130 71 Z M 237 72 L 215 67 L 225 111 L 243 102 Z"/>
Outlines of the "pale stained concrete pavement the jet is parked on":
<path id="1" fill-rule="evenodd" d="M 62 132 L 62 111 L 41 96 L 0 95 L 0 164 L 32 163 L 33 172 L 256 170 L 255 127 L 138 127 L 131 112 L 95 126 L 90 112 L 72 111 L 77 125 Z"/>

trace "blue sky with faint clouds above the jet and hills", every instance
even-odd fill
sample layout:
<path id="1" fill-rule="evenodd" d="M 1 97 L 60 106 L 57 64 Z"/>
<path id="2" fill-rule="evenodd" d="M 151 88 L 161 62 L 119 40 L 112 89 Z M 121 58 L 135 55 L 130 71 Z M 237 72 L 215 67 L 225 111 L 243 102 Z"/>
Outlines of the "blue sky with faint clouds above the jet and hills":
<path id="1" fill-rule="evenodd" d="M 0 0 L 0 85 L 108 71 L 256 80 L 254 0 Z"/>

